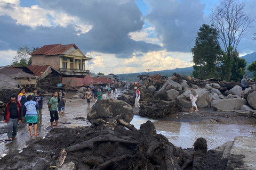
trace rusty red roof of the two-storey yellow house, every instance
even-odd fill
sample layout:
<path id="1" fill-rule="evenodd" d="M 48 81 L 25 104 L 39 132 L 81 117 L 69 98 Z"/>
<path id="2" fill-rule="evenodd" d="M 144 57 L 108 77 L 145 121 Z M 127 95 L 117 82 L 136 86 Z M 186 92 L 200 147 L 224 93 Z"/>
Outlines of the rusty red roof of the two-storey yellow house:
<path id="1" fill-rule="evenodd" d="M 70 47 L 74 46 L 76 49 L 78 47 L 75 44 L 67 44 L 67 45 L 61 45 L 61 44 L 53 44 L 53 45 L 45 45 L 37 50 L 35 52 L 31 53 L 30 55 L 60 55 L 66 52 Z"/>

